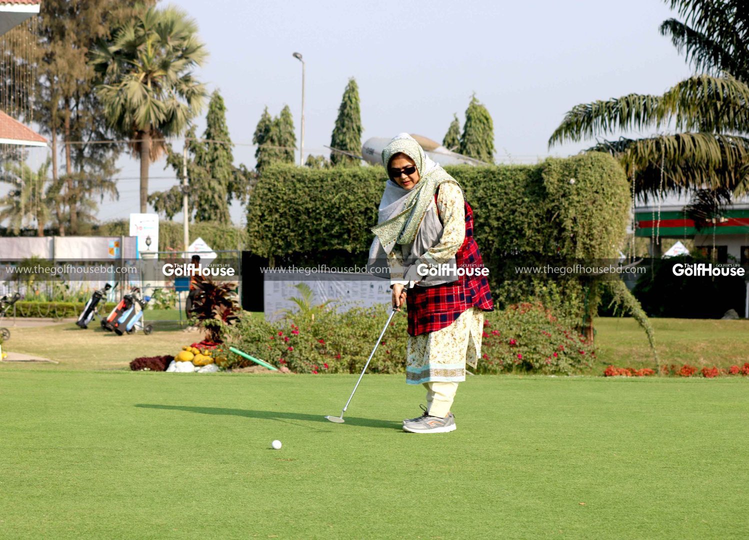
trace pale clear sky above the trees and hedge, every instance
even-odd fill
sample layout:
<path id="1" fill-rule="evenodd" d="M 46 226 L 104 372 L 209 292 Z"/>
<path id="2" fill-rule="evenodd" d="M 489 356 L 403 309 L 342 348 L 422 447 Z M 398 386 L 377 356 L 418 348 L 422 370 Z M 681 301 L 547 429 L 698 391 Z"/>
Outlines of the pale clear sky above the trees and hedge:
<path id="1" fill-rule="evenodd" d="M 161 3 L 165 4 L 164 2 Z M 328 154 L 348 78 L 360 88 L 363 142 L 407 131 L 442 140 L 475 91 L 494 119 L 497 160 L 535 163 L 589 143 L 551 150 L 548 138 L 577 103 L 631 92 L 661 94 L 691 74 L 658 25 L 676 13 L 663 1 L 247 1 L 172 2 L 195 18 L 210 56 L 198 77 L 219 88 L 235 143 L 251 144 L 264 106 L 301 109 L 306 62 L 305 155 Z M 204 118 L 198 121 L 198 133 Z M 175 148 L 181 148 L 176 142 Z M 255 148 L 234 148 L 252 167 Z M 298 156 L 298 154 L 297 154 Z M 150 189 L 175 180 L 151 165 Z M 139 165 L 123 158 L 121 197 L 100 219 L 138 211 Z M 243 209 L 232 217 L 243 223 Z M 180 218 L 181 219 L 181 218 Z"/>

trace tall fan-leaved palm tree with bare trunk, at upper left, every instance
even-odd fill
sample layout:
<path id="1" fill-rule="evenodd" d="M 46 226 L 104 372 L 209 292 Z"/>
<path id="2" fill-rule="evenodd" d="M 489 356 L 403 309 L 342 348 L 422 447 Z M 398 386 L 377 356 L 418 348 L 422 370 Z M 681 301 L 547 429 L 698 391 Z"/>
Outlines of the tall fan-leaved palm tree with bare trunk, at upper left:
<path id="1" fill-rule="evenodd" d="M 206 91 L 192 68 L 207 56 L 198 25 L 177 7 L 150 7 L 100 42 L 91 64 L 100 73 L 97 94 L 110 127 L 131 140 L 140 158 L 140 210 L 148 205 L 148 165 L 200 114 Z"/>

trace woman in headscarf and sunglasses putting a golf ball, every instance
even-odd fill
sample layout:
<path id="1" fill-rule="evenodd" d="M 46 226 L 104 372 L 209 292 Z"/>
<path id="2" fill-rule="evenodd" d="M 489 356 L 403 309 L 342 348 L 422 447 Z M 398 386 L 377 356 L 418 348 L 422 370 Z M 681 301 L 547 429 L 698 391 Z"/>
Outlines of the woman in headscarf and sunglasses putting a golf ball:
<path id="1" fill-rule="evenodd" d="M 493 311 L 473 211 L 455 178 L 407 133 L 382 151 L 389 180 L 380 201 L 370 261 L 386 259 L 392 306 L 407 303 L 406 382 L 422 384 L 424 413 L 412 433 L 455 430 L 450 412 L 466 363 L 481 356 L 484 312 Z"/>

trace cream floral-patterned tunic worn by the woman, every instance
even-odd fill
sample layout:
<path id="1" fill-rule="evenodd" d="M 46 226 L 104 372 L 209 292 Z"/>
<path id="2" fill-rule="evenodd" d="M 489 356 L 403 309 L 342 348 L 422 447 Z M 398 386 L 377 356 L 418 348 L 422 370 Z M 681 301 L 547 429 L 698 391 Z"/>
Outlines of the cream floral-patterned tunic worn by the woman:
<path id="1" fill-rule="evenodd" d="M 431 202 L 434 204 L 434 200 Z M 423 259 L 427 264 L 443 264 L 455 257 L 465 239 L 465 205 L 463 192 L 455 183 L 440 186 L 437 209 L 443 222 L 440 242 L 429 249 Z M 391 285 L 401 283 L 413 287 L 414 282 L 403 277 L 403 255 L 399 246 L 390 252 L 388 264 L 392 270 Z M 397 269 L 397 270 L 396 270 Z M 435 332 L 408 336 L 406 345 L 406 382 L 461 382 L 465 380 L 466 363 L 476 367 L 481 357 L 484 332 L 484 312 L 476 307 L 467 309 L 449 325 Z"/>

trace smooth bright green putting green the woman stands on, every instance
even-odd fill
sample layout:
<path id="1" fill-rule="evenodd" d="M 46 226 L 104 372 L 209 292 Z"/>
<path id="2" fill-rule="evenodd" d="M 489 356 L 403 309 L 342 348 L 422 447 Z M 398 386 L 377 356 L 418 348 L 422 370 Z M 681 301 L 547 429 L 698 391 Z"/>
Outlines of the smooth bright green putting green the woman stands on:
<path id="1" fill-rule="evenodd" d="M 746 378 L 475 377 L 428 436 L 402 376 L 325 421 L 355 379 L 5 371 L 0 537 L 749 536 Z"/>

